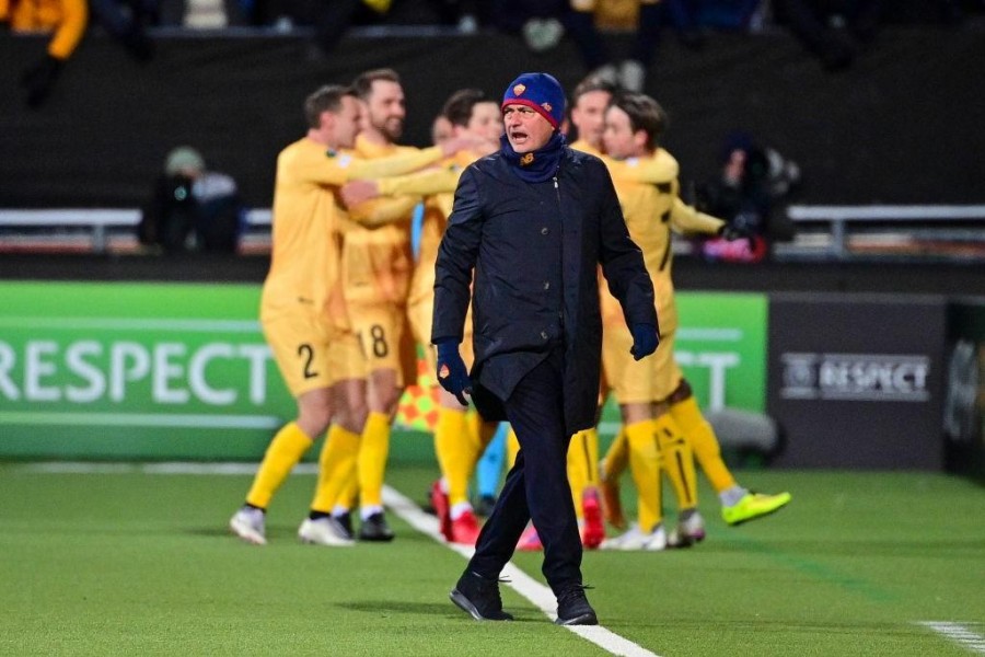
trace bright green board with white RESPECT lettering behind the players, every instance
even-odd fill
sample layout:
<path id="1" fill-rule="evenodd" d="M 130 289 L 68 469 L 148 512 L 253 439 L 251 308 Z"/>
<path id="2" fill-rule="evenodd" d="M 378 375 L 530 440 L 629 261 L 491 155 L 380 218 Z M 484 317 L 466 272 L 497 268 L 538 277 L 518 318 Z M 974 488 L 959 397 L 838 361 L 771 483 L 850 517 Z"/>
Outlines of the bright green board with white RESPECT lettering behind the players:
<path id="1" fill-rule="evenodd" d="M 0 298 L 0 459 L 254 461 L 294 414 L 258 285 L 3 281 Z M 765 295 L 679 304 L 676 356 L 700 403 L 762 413 Z M 427 388 L 402 400 L 395 460 L 433 459 L 434 403 Z M 603 431 L 616 425 L 610 406 Z"/>

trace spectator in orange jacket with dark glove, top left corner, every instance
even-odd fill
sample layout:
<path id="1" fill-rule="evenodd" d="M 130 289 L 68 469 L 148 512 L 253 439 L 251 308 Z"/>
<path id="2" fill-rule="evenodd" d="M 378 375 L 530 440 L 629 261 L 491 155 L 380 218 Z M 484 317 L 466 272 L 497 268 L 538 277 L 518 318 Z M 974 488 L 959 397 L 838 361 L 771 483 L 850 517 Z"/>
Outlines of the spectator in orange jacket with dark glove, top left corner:
<path id="1" fill-rule="evenodd" d="M 8 23 L 11 32 L 51 34 L 45 55 L 21 76 L 30 107 L 39 107 L 51 93 L 88 22 L 85 0 L 0 0 L 0 23 Z"/>

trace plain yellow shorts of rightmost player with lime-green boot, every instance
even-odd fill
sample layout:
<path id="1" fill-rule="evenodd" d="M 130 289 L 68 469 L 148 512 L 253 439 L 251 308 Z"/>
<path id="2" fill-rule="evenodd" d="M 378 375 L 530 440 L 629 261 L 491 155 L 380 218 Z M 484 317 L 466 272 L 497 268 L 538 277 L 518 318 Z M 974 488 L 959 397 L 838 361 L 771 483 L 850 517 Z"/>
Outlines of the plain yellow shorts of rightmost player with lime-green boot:
<path id="1" fill-rule="evenodd" d="M 619 404 L 660 402 L 684 378 L 674 360 L 674 334 L 660 337 L 657 351 L 642 360 L 629 353 L 633 335 L 625 324 L 606 325 L 602 338 L 602 367 L 605 381 Z"/>

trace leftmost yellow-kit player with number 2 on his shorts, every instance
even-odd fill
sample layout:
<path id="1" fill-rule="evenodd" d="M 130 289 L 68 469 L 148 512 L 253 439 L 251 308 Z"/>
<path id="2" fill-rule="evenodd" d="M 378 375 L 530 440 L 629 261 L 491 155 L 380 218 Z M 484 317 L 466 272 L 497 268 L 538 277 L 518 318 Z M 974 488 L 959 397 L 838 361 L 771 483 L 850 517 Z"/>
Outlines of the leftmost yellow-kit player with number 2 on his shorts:
<path id="1" fill-rule="evenodd" d="M 274 437 L 259 464 L 246 500 L 230 519 L 234 534 L 266 544 L 265 514 L 274 494 L 312 441 L 332 429 L 320 459 L 323 466 L 312 502 L 312 515 L 299 535 L 306 542 L 346 544 L 327 526 L 327 512 L 314 509 L 335 493 L 336 473 L 326 454 L 339 435 L 356 435 L 361 426 L 333 403 L 336 364 L 329 345 L 349 330 L 339 285 L 339 231 L 345 214 L 335 193 L 348 180 L 414 171 L 443 157 L 440 148 L 367 162 L 339 149 L 354 145 L 360 119 L 359 101 L 344 87 L 328 85 L 304 102 L 306 135 L 277 157 L 274 189 L 274 247 L 260 299 L 260 324 L 280 373 L 298 404 L 297 417 Z M 331 510 L 331 507 L 328 509 Z"/>

